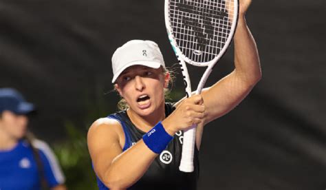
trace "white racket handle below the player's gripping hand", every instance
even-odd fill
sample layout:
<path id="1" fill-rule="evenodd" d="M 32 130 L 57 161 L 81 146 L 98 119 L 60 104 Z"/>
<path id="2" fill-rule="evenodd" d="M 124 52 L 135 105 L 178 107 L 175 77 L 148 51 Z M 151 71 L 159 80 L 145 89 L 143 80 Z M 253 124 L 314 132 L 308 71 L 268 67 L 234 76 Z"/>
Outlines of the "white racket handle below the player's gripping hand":
<path id="1" fill-rule="evenodd" d="M 195 152 L 195 137 L 196 137 L 196 127 L 193 125 L 191 129 L 184 131 L 184 140 L 182 145 L 182 155 L 179 169 L 184 172 L 193 172 L 193 156 Z"/>

